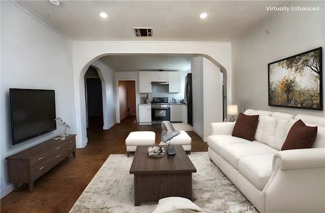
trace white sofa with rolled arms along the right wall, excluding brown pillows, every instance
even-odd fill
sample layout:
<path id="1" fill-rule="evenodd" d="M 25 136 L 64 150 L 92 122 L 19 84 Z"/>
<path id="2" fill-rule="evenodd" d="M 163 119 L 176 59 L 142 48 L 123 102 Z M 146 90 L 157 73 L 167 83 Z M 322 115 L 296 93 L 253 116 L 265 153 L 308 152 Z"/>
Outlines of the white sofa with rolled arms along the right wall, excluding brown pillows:
<path id="1" fill-rule="evenodd" d="M 253 141 L 235 123 L 212 123 L 208 155 L 260 212 L 325 212 L 325 118 L 248 109 L 259 115 Z M 297 120 L 317 126 L 311 148 L 282 150 Z"/>

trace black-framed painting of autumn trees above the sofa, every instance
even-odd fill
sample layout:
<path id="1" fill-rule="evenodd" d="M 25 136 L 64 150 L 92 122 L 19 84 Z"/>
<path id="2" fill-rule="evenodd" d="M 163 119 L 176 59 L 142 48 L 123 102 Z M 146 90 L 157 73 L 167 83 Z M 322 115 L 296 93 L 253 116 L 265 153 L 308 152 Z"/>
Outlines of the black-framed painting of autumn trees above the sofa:
<path id="1" fill-rule="evenodd" d="M 269 106 L 322 110 L 322 48 L 268 64 Z"/>

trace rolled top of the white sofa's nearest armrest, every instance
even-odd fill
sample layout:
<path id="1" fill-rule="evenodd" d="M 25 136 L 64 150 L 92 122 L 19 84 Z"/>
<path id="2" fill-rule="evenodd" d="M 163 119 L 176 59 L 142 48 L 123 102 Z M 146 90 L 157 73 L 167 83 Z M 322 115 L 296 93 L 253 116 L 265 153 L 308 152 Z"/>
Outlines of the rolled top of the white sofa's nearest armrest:
<path id="1" fill-rule="evenodd" d="M 273 170 L 325 167 L 325 148 L 289 149 L 273 156 Z"/>

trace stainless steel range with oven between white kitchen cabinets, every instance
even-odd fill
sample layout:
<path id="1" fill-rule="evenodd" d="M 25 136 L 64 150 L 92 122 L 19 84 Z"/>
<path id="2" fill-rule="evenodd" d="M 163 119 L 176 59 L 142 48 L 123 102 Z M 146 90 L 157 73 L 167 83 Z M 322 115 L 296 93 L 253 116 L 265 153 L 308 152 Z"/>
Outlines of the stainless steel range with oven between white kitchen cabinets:
<path id="1" fill-rule="evenodd" d="M 163 120 L 170 120 L 171 106 L 168 98 L 152 98 L 151 102 L 151 124 L 160 125 Z"/>

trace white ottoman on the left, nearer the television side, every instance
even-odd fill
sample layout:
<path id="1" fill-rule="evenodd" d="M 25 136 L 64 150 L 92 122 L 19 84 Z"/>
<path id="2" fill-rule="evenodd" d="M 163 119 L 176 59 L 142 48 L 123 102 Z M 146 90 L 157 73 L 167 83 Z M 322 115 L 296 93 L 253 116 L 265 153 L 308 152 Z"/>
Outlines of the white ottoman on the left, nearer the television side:
<path id="1" fill-rule="evenodd" d="M 136 151 L 137 146 L 154 145 L 156 133 L 152 131 L 137 131 L 128 134 L 125 139 L 127 157 L 131 152 Z"/>

